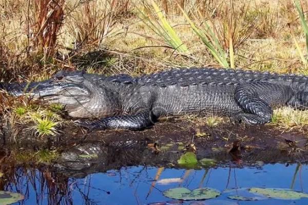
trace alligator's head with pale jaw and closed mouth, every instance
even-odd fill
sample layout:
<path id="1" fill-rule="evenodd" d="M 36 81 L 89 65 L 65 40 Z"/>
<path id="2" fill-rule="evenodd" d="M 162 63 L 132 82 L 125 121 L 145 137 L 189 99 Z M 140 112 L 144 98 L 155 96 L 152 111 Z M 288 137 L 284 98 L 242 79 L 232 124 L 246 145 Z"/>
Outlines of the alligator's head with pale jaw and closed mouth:
<path id="1" fill-rule="evenodd" d="M 73 117 L 98 118 L 115 114 L 119 105 L 110 84 L 104 79 L 82 71 L 60 71 L 48 80 L 3 87 L 15 96 L 26 94 L 48 104 L 62 104 Z"/>

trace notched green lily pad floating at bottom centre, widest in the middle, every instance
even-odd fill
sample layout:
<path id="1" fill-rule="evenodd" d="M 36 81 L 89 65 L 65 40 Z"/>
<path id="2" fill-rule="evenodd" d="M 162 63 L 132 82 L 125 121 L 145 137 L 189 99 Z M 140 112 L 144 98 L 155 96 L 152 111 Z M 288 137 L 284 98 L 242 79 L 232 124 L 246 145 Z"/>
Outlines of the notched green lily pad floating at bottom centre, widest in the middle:
<path id="1" fill-rule="evenodd" d="M 190 191 L 186 188 L 173 188 L 163 192 L 166 197 L 182 200 L 202 200 L 219 196 L 221 193 L 216 189 L 200 188 Z"/>

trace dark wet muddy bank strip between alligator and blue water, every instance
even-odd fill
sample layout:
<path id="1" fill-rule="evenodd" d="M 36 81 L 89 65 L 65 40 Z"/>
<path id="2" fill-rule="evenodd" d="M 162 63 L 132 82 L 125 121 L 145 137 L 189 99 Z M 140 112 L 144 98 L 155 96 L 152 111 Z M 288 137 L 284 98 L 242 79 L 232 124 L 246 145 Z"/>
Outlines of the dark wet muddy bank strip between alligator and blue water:
<path id="1" fill-rule="evenodd" d="M 215 159 L 215 166 L 308 161 L 308 138 L 303 131 L 285 132 L 270 125 L 220 124 L 209 128 L 177 120 L 143 131 L 110 129 L 91 133 L 63 125 L 59 135 L 40 140 L 31 138 L 33 133 L 29 132 L 21 132 L 17 143 L 2 136 L 2 150 L 56 150 L 59 157 L 51 167 L 76 176 L 123 166 L 178 167 L 177 160 L 187 150 L 195 151 L 197 159 Z"/>

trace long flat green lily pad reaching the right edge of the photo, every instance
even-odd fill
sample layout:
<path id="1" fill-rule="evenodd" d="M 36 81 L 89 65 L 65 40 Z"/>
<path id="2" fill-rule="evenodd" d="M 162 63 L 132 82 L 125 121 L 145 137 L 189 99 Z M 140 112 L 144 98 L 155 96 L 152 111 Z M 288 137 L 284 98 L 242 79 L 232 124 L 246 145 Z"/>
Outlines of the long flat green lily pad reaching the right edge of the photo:
<path id="1" fill-rule="evenodd" d="M 308 194 L 297 192 L 290 189 L 268 189 L 268 188 L 250 188 L 251 193 L 261 194 L 268 198 L 295 200 L 303 197 L 308 198 Z"/>

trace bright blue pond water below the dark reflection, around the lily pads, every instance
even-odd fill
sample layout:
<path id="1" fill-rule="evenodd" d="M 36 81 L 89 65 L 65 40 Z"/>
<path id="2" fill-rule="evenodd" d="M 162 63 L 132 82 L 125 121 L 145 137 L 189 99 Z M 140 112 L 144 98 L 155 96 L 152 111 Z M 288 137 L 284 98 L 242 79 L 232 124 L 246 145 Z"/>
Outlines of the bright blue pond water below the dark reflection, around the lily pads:
<path id="1" fill-rule="evenodd" d="M 298 169 L 299 168 L 299 169 Z M 298 171 L 296 172 L 296 170 Z M 82 176 L 82 175 L 81 175 Z M 182 181 L 163 185 L 155 177 L 182 178 Z M 219 167 L 202 170 L 186 170 L 156 167 L 123 167 L 105 173 L 92 173 L 81 178 L 69 177 L 59 171 L 46 168 L 18 168 L 3 181 L 4 190 L 20 192 L 25 199 L 14 204 L 148 204 L 169 201 L 162 192 L 169 188 L 185 187 L 190 190 L 210 187 L 220 191 L 228 188 L 264 187 L 293 189 L 308 193 L 308 166 L 280 163 L 258 168 Z M 0 187 L 1 188 L 1 187 Z M 230 204 L 308 204 L 308 198 L 300 200 L 267 199 L 237 201 L 226 194 L 215 199 Z M 194 201 L 184 201 L 190 204 Z M 206 204 L 206 203 L 204 203 Z M 217 204 L 223 204 L 221 201 Z M 227 203 L 226 203 L 227 204 Z"/>

